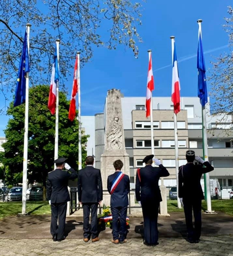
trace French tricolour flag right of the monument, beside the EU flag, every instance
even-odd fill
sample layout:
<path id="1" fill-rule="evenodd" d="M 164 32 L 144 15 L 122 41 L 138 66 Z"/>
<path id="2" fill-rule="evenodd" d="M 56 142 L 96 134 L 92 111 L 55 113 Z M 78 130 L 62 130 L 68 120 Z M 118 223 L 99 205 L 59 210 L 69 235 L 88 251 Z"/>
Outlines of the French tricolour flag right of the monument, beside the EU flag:
<path id="1" fill-rule="evenodd" d="M 172 48 L 172 89 L 171 89 L 171 101 L 174 105 L 174 113 L 180 112 L 180 79 L 176 58 L 176 47 L 174 38 L 171 39 Z"/>

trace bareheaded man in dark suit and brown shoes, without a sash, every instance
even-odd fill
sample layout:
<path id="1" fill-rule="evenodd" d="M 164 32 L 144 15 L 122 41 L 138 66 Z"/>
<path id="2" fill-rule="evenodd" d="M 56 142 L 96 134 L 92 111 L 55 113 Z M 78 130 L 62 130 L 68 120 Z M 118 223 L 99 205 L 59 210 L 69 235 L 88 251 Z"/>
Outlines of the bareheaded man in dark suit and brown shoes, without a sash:
<path id="1" fill-rule="evenodd" d="M 97 208 L 103 200 L 103 187 L 99 169 L 93 167 L 94 158 L 86 157 L 86 167 L 79 171 L 78 175 L 78 198 L 83 208 L 83 241 L 99 241 L 97 231 Z M 89 216 L 91 212 L 91 229 Z"/>

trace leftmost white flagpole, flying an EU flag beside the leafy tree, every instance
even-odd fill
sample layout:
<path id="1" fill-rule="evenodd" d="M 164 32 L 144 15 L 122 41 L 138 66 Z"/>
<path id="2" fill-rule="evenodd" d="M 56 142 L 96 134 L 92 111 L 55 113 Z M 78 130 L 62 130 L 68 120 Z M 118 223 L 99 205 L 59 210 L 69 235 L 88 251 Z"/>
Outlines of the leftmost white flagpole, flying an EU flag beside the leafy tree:
<path id="1" fill-rule="evenodd" d="M 26 24 L 27 29 L 27 47 L 29 56 L 29 34 L 31 24 Z M 29 105 L 29 74 L 26 72 L 25 82 L 25 119 L 24 119 L 24 143 L 23 143 L 23 185 L 22 185 L 22 215 L 26 215 L 26 191 L 27 191 L 27 155 L 28 155 L 28 105 Z"/>

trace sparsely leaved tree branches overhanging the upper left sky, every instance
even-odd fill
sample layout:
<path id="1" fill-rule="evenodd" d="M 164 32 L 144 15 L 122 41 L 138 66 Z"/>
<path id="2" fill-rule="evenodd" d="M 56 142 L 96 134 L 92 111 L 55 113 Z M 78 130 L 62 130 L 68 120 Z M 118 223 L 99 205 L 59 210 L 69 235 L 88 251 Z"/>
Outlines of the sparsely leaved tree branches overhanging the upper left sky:
<path id="1" fill-rule="evenodd" d="M 144 0 L 141 0 L 144 1 Z M 81 65 L 92 56 L 94 46 L 116 49 L 124 44 L 138 55 L 140 41 L 136 25 L 141 24 L 140 3 L 129 0 L 5 0 L 0 3 L 0 83 L 3 93 L 16 81 L 26 23 L 30 29 L 30 84 L 50 81 L 55 41 L 59 50 L 60 87 L 70 76 L 76 51 Z M 11 83 L 9 83 L 11 81 Z M 9 84 L 9 86 L 8 86 Z"/>

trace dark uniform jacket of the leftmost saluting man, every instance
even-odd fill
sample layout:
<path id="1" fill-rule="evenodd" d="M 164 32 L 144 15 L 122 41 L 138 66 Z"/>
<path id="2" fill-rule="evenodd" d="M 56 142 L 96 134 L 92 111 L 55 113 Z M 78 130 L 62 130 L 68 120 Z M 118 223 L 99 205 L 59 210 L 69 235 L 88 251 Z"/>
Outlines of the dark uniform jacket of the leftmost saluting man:
<path id="1" fill-rule="evenodd" d="M 65 203 L 70 201 L 67 188 L 68 180 L 73 180 L 77 177 L 78 173 L 73 168 L 70 168 L 69 171 L 55 169 L 49 172 L 46 181 L 47 199 L 51 200 L 51 203 Z"/>

